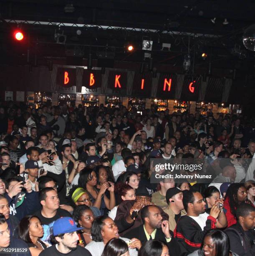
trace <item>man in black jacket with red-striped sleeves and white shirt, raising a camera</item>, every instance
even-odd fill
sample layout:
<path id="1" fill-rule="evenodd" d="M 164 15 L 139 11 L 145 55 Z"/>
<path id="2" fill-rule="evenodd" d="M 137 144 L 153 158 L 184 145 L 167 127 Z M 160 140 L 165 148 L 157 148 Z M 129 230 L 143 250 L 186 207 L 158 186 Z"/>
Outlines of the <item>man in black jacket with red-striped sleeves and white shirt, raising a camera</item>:
<path id="1" fill-rule="evenodd" d="M 187 215 L 179 218 L 174 230 L 174 237 L 180 244 L 181 254 L 185 253 L 186 255 L 200 248 L 208 230 L 225 228 L 227 219 L 222 210 L 221 200 L 215 202 L 210 214 L 205 212 L 205 199 L 199 192 L 184 190 L 182 202 Z"/>

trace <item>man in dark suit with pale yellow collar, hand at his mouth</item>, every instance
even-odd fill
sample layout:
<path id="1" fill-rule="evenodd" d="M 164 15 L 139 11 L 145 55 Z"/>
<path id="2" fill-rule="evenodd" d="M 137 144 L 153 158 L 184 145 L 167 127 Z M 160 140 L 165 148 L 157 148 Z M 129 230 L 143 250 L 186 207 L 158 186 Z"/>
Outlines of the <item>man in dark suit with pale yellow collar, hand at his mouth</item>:
<path id="1" fill-rule="evenodd" d="M 162 221 L 160 207 L 146 205 L 141 210 L 141 219 L 143 224 L 126 233 L 126 238 L 137 238 L 142 244 L 146 241 L 157 239 L 167 243 L 170 255 L 179 255 L 179 244 L 174 238 L 174 233 L 169 230 L 168 221 Z"/>

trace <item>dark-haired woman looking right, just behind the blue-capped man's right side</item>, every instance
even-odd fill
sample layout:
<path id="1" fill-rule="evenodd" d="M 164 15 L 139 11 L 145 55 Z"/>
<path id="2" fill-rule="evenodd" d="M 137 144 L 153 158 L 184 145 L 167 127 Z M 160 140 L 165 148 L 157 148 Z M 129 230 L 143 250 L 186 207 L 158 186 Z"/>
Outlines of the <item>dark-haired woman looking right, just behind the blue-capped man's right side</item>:
<path id="1" fill-rule="evenodd" d="M 77 223 L 79 227 L 83 229 L 78 233 L 78 236 L 81 238 L 80 246 L 86 246 L 88 243 L 92 241 L 91 237 L 91 226 L 94 220 L 93 212 L 90 207 L 87 205 L 78 205 L 73 210 L 73 219 Z"/>

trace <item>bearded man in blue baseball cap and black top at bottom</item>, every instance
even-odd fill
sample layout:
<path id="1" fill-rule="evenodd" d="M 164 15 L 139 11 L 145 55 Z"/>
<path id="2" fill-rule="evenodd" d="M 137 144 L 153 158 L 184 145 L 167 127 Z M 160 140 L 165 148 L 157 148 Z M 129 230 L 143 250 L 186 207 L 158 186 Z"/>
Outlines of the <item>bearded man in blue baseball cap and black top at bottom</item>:
<path id="1" fill-rule="evenodd" d="M 55 245 L 43 250 L 40 256 L 91 256 L 87 249 L 77 245 L 79 241 L 77 231 L 81 229 L 77 228 L 75 221 L 70 217 L 56 220 L 53 224 L 53 234 L 51 236 Z"/>

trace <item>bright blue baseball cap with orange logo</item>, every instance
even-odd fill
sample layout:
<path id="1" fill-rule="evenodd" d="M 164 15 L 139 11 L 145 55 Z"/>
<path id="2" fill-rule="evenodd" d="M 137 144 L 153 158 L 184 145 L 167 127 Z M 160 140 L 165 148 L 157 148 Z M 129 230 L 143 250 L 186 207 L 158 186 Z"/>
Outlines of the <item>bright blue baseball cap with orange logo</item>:
<path id="1" fill-rule="evenodd" d="M 62 217 L 56 220 L 53 224 L 53 236 L 60 234 L 71 233 L 83 228 L 77 228 L 75 221 L 70 217 Z"/>

